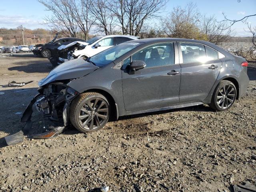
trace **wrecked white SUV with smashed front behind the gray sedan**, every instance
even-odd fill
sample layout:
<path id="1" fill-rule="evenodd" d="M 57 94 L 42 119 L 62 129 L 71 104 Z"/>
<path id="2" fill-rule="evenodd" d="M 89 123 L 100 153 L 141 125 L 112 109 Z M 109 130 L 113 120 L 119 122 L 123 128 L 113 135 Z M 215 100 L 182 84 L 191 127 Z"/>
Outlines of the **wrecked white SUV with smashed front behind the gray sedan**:
<path id="1" fill-rule="evenodd" d="M 49 60 L 52 66 L 56 67 L 68 60 L 80 57 L 89 58 L 112 46 L 136 39 L 138 37 L 131 35 L 106 35 L 93 37 L 86 42 L 75 41 L 58 47 L 57 55 L 51 56 Z"/>

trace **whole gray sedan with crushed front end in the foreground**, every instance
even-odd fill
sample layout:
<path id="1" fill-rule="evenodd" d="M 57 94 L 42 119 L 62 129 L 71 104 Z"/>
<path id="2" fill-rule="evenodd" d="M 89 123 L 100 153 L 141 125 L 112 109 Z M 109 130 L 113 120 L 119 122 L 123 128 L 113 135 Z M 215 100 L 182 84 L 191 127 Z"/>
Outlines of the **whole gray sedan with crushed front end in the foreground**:
<path id="1" fill-rule="evenodd" d="M 200 104 L 224 111 L 246 91 L 247 66 L 210 42 L 132 40 L 54 68 L 21 121 L 30 121 L 34 103 L 44 118 L 63 119 L 82 132 L 130 114 Z"/>

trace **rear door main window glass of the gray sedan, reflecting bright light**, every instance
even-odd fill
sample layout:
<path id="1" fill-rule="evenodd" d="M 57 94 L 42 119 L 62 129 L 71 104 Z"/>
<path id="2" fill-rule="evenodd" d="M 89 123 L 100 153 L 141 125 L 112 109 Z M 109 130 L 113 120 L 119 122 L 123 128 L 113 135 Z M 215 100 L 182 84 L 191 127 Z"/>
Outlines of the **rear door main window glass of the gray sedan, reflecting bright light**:
<path id="1" fill-rule="evenodd" d="M 206 60 L 204 46 L 196 43 L 181 43 L 183 63 L 202 62 Z"/>

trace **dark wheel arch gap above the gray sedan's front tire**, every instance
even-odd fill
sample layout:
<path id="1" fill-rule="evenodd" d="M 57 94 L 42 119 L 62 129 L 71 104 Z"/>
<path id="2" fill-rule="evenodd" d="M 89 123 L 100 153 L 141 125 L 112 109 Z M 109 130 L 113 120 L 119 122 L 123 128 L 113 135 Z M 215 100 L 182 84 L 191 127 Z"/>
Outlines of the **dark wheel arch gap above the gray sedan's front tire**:
<path id="1" fill-rule="evenodd" d="M 110 102 L 110 107 L 111 107 L 111 111 L 112 111 L 111 116 L 114 117 L 116 120 L 118 119 L 118 105 L 116 104 L 114 97 L 109 92 L 107 92 L 106 90 L 98 89 L 98 88 L 88 89 L 82 93 L 85 93 L 85 92 L 97 92 L 97 93 L 100 93 L 103 96 L 105 96 L 108 99 L 108 101 Z"/>

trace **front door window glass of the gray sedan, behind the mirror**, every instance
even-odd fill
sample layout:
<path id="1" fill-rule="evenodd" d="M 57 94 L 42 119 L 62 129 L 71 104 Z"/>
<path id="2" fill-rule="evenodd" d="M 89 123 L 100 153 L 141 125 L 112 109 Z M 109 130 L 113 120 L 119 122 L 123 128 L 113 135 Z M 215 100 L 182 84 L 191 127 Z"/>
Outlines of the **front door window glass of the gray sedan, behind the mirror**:
<path id="1" fill-rule="evenodd" d="M 146 68 L 173 65 L 174 45 L 173 43 L 160 43 L 147 47 L 132 55 L 132 60 L 142 60 Z"/>

